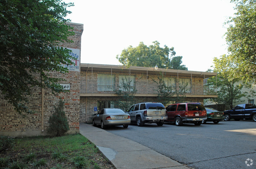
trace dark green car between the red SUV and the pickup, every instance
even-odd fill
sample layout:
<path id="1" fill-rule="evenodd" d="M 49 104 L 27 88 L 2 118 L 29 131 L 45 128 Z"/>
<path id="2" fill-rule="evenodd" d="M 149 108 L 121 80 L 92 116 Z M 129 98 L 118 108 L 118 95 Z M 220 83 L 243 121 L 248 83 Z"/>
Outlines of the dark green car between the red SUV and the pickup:
<path id="1" fill-rule="evenodd" d="M 213 122 L 215 124 L 224 120 L 224 113 L 222 111 L 217 111 L 210 107 L 205 107 L 207 113 L 207 119 L 202 120 L 202 124 L 206 124 L 206 122 Z"/>

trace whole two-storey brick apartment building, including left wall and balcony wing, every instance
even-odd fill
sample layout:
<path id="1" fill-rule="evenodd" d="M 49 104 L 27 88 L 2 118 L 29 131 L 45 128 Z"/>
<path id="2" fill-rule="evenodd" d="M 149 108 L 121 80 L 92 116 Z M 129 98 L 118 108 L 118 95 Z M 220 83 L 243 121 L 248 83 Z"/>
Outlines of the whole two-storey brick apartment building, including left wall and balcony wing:
<path id="1" fill-rule="evenodd" d="M 216 73 L 182 71 L 173 69 L 155 69 L 154 67 L 129 67 L 120 65 L 80 64 L 81 36 L 83 24 L 69 23 L 74 27 L 75 35 L 71 36 L 74 42 L 61 44 L 72 50 L 72 54 L 78 56 L 76 66 L 69 67 L 69 73 L 52 72 L 53 77 L 65 79 L 59 84 L 66 86 L 69 93 L 52 94 L 49 89 L 35 87 L 32 96 L 29 97 L 28 107 L 37 111 L 35 114 L 26 114 L 22 117 L 16 113 L 13 106 L 0 94 L 0 135 L 8 136 L 35 136 L 47 135 L 49 117 L 54 111 L 54 105 L 59 98 L 64 99 L 70 131 L 79 132 L 80 122 L 89 122 L 90 117 L 97 110 L 105 107 L 114 107 L 118 95 L 115 90 L 122 78 L 128 77 L 136 88 L 136 102 L 155 102 L 157 84 L 154 80 L 164 75 L 166 82 L 187 83 L 187 102 L 203 102 L 204 98 L 217 97 L 216 87 L 204 88 L 204 79 L 216 76 Z M 173 84 L 174 86 L 176 84 Z"/>

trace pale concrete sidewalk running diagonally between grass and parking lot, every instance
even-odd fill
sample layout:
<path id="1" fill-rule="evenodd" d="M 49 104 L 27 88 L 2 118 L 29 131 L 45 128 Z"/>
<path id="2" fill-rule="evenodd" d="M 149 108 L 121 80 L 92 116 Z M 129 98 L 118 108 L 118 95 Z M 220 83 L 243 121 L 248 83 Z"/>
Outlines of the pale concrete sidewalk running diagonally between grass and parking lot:
<path id="1" fill-rule="evenodd" d="M 117 169 L 189 169 L 152 149 L 99 127 L 80 123 L 80 133 Z"/>

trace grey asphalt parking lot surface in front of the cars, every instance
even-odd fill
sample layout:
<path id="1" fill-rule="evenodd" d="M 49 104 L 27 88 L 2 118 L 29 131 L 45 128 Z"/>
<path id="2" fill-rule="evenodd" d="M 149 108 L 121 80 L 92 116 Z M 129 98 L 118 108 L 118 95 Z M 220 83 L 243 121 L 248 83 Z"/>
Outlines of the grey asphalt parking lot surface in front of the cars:
<path id="1" fill-rule="evenodd" d="M 127 129 L 113 126 L 106 131 L 195 169 L 256 168 L 256 123 L 252 120 L 207 122 L 200 126 L 171 123 L 129 125 Z"/>

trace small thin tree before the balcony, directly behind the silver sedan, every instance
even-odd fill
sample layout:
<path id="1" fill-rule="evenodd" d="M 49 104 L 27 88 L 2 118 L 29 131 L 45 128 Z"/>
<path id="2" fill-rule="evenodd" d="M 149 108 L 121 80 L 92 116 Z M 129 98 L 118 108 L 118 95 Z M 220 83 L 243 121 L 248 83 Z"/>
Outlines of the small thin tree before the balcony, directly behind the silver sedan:
<path id="1" fill-rule="evenodd" d="M 134 82 L 126 78 L 126 76 L 122 78 L 121 84 L 117 85 L 117 87 L 119 90 L 115 90 L 115 93 L 119 96 L 119 99 L 117 99 L 115 105 L 126 111 L 135 103 L 137 90 L 134 86 Z"/>

